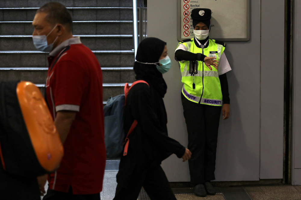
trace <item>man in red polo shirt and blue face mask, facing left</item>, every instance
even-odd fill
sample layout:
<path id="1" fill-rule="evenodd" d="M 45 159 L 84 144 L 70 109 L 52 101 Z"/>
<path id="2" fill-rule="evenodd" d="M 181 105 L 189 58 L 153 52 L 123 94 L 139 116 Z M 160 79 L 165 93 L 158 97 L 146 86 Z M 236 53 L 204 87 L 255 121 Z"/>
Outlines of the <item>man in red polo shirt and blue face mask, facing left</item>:
<path id="1" fill-rule="evenodd" d="M 73 37 L 64 5 L 40 7 L 33 27 L 36 48 L 50 52 L 46 97 L 64 144 L 64 157 L 48 177 L 44 200 L 100 199 L 106 162 L 101 67 L 79 37 Z M 45 177 L 38 178 L 41 194 Z"/>

